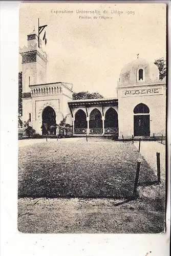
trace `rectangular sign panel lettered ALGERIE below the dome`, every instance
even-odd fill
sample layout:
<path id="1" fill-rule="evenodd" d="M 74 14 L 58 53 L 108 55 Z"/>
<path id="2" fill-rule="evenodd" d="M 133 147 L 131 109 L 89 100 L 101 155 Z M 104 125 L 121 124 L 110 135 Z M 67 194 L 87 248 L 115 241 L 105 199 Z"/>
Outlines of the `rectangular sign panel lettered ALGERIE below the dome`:
<path id="1" fill-rule="evenodd" d="M 153 88 L 153 89 L 133 89 L 133 90 L 124 90 L 122 91 L 122 97 L 127 96 L 149 96 L 149 95 L 159 95 L 163 94 L 162 88 Z"/>

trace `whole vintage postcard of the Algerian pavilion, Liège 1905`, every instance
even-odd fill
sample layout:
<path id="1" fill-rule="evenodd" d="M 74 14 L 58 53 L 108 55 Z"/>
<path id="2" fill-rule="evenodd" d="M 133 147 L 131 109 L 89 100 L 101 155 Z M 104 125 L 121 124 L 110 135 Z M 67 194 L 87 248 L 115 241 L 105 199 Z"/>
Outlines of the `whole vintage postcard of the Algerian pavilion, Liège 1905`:
<path id="1" fill-rule="evenodd" d="M 166 4 L 20 4 L 20 232 L 165 232 L 166 75 Z"/>

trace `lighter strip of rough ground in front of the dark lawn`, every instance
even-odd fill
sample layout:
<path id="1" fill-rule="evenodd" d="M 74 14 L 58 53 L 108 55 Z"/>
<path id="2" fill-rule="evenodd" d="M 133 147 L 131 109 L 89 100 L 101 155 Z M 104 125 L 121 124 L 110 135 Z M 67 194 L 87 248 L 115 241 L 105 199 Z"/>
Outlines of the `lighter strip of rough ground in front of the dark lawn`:
<path id="1" fill-rule="evenodd" d="M 24 233 L 158 233 L 164 211 L 137 199 L 18 200 L 18 230 Z M 143 223 L 143 224 L 142 224 Z"/>

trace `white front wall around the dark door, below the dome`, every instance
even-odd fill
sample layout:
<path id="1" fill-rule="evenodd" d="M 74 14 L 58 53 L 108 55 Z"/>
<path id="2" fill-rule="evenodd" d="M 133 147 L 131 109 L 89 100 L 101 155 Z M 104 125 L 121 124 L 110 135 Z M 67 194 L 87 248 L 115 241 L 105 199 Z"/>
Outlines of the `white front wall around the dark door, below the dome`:
<path id="1" fill-rule="evenodd" d="M 155 88 L 161 88 L 161 85 L 155 86 Z M 163 87 L 163 86 L 162 86 Z M 154 87 L 147 86 L 151 89 Z M 137 87 L 137 90 L 142 89 Z M 143 89 L 145 89 L 143 87 Z M 153 133 L 157 136 L 165 135 L 166 125 L 166 95 L 165 86 L 163 87 L 162 95 L 150 95 L 150 96 L 127 96 L 121 97 L 123 88 L 118 88 L 118 123 L 119 123 L 119 137 L 122 135 L 131 137 L 134 135 L 134 108 L 139 103 L 144 103 L 149 108 L 150 115 L 150 136 Z"/>

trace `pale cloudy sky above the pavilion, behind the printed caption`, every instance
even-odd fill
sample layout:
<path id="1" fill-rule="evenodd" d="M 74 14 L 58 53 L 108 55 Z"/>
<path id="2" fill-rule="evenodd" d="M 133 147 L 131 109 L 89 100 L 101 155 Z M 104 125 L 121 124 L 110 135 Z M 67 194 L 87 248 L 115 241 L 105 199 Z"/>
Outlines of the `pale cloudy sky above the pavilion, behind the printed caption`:
<path id="1" fill-rule="evenodd" d="M 19 47 L 27 45 L 34 27 L 37 31 L 38 18 L 40 26 L 48 25 L 47 45 L 42 44 L 48 58 L 47 82 L 72 83 L 74 92 L 116 97 L 121 69 L 138 53 L 149 62 L 166 56 L 165 4 L 20 4 Z M 20 71 L 21 61 L 19 55 Z"/>

